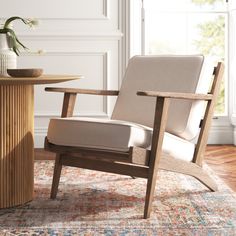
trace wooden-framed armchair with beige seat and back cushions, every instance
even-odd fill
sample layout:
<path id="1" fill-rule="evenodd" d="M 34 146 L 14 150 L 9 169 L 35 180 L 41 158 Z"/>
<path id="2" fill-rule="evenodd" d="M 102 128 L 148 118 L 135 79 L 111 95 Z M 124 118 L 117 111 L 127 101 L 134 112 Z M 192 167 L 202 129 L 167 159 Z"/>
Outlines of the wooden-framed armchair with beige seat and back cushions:
<path id="1" fill-rule="evenodd" d="M 45 138 L 45 149 L 57 153 L 51 198 L 63 165 L 146 178 L 144 218 L 150 217 L 158 169 L 194 176 L 217 190 L 201 166 L 223 64 L 206 66 L 211 75 L 205 76 L 203 65 L 203 56 L 136 56 L 120 91 L 46 88 L 64 93 L 62 118 L 50 120 Z M 77 94 L 118 96 L 111 119 L 72 118 Z"/>

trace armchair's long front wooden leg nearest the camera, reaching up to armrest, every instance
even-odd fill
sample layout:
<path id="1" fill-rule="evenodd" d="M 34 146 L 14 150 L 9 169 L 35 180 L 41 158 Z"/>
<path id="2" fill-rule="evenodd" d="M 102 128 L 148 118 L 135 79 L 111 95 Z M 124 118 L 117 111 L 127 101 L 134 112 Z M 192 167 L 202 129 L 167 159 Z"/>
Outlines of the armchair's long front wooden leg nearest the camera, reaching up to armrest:
<path id="1" fill-rule="evenodd" d="M 156 110 L 153 126 L 152 148 L 149 163 L 149 175 L 146 190 L 144 218 L 150 217 L 153 196 L 155 192 L 158 165 L 162 153 L 162 143 L 164 138 L 165 127 L 170 100 L 169 98 L 158 98 L 156 101 Z"/>

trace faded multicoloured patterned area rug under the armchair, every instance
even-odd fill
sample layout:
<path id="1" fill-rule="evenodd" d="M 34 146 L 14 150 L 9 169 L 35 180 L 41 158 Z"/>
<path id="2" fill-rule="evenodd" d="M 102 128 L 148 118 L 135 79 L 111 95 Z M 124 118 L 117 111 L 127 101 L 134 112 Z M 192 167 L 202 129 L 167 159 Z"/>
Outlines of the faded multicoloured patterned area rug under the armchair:
<path id="1" fill-rule="evenodd" d="M 52 161 L 36 162 L 34 200 L 0 210 L 0 235 L 236 235 L 235 193 L 216 177 L 220 190 L 210 192 L 192 177 L 159 171 L 144 220 L 146 180 L 64 167 L 50 200 L 52 172 Z"/>

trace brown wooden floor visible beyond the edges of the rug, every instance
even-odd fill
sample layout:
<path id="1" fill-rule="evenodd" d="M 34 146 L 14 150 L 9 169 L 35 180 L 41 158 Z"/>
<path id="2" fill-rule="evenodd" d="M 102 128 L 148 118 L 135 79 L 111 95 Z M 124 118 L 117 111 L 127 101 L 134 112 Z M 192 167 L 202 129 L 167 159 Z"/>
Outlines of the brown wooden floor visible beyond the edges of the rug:
<path id="1" fill-rule="evenodd" d="M 36 160 L 53 160 L 55 154 L 35 149 Z M 205 162 L 234 191 L 236 191 L 236 147 L 232 145 L 207 146 Z"/>

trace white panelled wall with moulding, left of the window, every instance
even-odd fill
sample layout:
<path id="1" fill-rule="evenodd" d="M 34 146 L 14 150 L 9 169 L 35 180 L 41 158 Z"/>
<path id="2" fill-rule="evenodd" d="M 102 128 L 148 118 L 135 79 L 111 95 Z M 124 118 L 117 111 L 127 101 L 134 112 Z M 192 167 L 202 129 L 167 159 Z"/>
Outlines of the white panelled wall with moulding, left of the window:
<path id="1" fill-rule="evenodd" d="M 48 86 L 118 89 L 122 77 L 123 0 L 8 0 L 1 18 L 18 15 L 40 20 L 35 29 L 14 23 L 19 39 L 42 56 L 22 53 L 19 68 L 43 68 L 45 74 L 83 75 L 84 79 Z M 14 6 L 14 7 L 13 7 Z M 43 147 L 49 118 L 59 116 L 62 95 L 35 86 L 35 146 Z M 113 99 L 113 100 L 112 100 Z M 82 95 L 75 114 L 109 116 L 114 98 Z"/>

